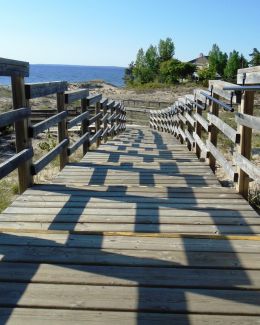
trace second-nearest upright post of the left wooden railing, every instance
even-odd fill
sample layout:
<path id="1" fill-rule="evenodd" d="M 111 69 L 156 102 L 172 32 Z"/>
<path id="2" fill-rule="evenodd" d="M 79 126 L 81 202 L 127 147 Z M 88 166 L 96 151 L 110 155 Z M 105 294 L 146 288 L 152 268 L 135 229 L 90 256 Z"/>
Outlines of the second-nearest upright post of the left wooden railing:
<path id="1" fill-rule="evenodd" d="M 65 95 L 64 92 L 57 93 L 57 110 L 63 112 L 66 110 L 65 107 Z M 59 143 L 64 139 L 68 138 L 67 119 L 58 123 L 58 139 Z M 60 153 L 60 170 L 62 170 L 68 163 L 68 150 L 64 148 Z"/>

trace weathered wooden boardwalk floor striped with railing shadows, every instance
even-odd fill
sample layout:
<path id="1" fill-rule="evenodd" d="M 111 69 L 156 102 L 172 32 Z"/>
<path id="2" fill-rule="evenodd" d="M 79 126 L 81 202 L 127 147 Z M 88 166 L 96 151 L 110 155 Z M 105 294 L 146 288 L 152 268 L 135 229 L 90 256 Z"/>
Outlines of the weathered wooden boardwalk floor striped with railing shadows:
<path id="1" fill-rule="evenodd" d="M 0 216 L 0 324 L 260 324 L 260 218 L 129 127 Z"/>

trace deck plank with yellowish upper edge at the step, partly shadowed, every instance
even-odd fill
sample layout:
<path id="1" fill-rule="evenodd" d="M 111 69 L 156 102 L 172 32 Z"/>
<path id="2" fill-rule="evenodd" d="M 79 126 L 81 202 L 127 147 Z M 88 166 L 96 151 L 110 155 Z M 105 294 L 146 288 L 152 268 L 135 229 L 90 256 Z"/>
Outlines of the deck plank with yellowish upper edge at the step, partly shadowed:
<path id="1" fill-rule="evenodd" d="M 226 252 L 259 254 L 259 236 L 182 235 L 172 233 L 100 232 L 77 234 L 64 230 L 12 230 L 1 232 L 0 245 L 129 249 L 152 251 Z"/>

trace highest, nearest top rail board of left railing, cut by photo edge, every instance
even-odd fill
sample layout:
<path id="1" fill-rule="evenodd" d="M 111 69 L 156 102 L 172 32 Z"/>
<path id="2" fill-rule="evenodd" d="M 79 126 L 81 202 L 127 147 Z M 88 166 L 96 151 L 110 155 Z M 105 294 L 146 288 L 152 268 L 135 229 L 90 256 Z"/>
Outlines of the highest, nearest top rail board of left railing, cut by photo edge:
<path id="1" fill-rule="evenodd" d="M 0 76 L 29 77 L 29 62 L 0 58 Z"/>

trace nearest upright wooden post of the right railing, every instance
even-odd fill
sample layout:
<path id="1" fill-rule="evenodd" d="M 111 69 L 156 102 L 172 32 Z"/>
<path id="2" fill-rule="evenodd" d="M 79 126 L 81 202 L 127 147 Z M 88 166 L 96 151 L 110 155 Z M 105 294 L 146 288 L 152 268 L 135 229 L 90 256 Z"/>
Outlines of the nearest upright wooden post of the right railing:
<path id="1" fill-rule="evenodd" d="M 253 109 L 254 92 L 244 91 L 241 104 L 239 105 L 239 112 L 242 114 L 253 115 Z M 238 125 L 238 133 L 240 133 L 240 143 L 237 145 L 237 152 L 250 160 L 252 149 L 252 129 L 243 125 Z M 241 168 L 237 167 L 237 171 L 238 182 L 236 183 L 236 189 L 244 198 L 248 199 L 249 177 Z"/>

